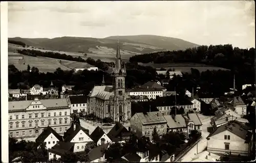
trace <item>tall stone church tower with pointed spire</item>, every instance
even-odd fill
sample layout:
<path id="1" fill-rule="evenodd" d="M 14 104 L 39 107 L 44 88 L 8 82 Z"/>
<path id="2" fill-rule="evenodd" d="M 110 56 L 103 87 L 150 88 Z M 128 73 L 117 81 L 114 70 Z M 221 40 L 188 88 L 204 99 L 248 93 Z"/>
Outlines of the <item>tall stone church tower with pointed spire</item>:
<path id="1" fill-rule="evenodd" d="M 114 77 L 114 108 L 113 120 L 115 122 L 124 122 L 131 118 L 131 101 L 127 100 L 129 96 L 125 93 L 125 65 L 122 65 L 120 49 L 117 42 L 116 64 L 111 75 Z"/>

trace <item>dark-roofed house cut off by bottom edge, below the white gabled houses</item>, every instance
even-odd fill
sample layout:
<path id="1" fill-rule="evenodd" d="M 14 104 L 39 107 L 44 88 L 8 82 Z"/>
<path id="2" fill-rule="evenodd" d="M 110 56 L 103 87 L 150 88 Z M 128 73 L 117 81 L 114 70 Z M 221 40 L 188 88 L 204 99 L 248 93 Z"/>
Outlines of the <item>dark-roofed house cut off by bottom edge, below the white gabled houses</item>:
<path id="1" fill-rule="evenodd" d="M 110 147 L 109 143 L 99 145 L 93 148 L 89 153 L 90 162 L 106 162 L 105 151 Z"/>

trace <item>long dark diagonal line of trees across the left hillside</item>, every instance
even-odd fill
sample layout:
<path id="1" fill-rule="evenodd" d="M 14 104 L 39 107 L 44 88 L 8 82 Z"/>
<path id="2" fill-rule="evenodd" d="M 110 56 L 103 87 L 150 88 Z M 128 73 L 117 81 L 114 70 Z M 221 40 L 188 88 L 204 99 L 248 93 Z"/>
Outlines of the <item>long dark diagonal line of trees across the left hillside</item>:
<path id="1" fill-rule="evenodd" d="M 76 61 L 76 62 L 85 62 L 89 63 L 90 65 L 96 66 L 99 69 L 102 69 L 103 71 L 108 70 L 109 66 L 108 64 L 105 64 L 104 62 L 101 62 L 99 59 L 95 61 L 92 58 L 88 58 L 86 60 L 79 57 L 72 57 L 70 55 L 66 55 L 65 53 L 61 54 L 58 52 L 53 51 L 40 51 L 40 50 L 34 50 L 34 49 L 18 49 L 18 53 L 22 55 L 32 56 L 32 57 L 48 57 L 48 58 L 54 58 L 54 59 L 60 59 L 60 60 L 68 60 L 68 61 Z"/>

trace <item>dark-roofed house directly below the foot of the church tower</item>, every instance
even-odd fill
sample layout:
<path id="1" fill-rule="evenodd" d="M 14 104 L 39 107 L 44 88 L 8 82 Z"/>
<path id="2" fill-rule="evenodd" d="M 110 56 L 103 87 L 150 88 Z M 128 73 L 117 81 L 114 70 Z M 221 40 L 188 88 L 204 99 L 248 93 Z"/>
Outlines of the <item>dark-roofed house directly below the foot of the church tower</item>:
<path id="1" fill-rule="evenodd" d="M 123 142 L 130 140 L 131 134 L 130 130 L 117 122 L 107 135 L 112 142 Z"/>

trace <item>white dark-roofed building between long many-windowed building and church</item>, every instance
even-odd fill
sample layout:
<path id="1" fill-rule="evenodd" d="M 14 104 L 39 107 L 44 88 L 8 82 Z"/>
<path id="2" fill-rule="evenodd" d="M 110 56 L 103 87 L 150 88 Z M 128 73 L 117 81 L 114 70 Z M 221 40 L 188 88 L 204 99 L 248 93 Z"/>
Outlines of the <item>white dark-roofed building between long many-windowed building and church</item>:
<path id="1" fill-rule="evenodd" d="M 69 96 L 70 100 L 70 113 L 77 112 L 87 112 L 87 96 Z"/>

